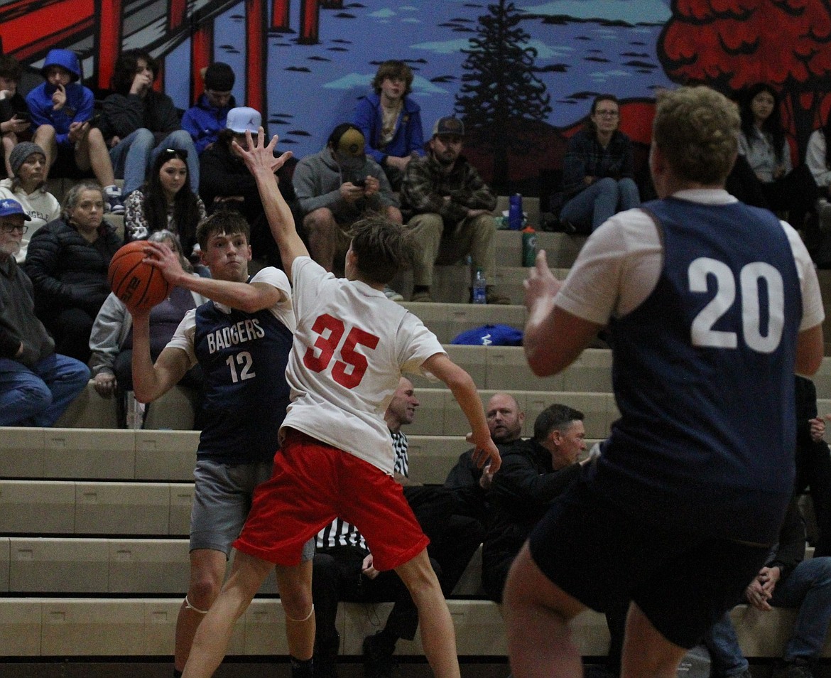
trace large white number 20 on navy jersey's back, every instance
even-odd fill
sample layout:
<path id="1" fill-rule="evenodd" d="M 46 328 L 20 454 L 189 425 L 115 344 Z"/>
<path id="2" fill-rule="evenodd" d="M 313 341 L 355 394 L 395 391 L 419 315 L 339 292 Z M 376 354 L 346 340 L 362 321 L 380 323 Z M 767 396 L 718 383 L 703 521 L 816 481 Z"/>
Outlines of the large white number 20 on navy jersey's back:
<path id="1" fill-rule="evenodd" d="M 693 346 L 711 346 L 735 349 L 735 332 L 713 329 L 716 322 L 735 304 L 736 280 L 733 271 L 723 261 L 700 257 L 690 265 L 687 275 L 691 292 L 707 291 L 707 276 L 715 277 L 715 296 L 699 311 L 692 321 Z M 760 282 L 764 280 L 768 296 L 767 333 L 762 334 L 760 314 Z M 764 261 L 754 261 L 742 267 L 739 274 L 741 329 L 750 349 L 759 353 L 773 353 L 782 339 L 784 324 L 784 286 L 782 275 Z"/>

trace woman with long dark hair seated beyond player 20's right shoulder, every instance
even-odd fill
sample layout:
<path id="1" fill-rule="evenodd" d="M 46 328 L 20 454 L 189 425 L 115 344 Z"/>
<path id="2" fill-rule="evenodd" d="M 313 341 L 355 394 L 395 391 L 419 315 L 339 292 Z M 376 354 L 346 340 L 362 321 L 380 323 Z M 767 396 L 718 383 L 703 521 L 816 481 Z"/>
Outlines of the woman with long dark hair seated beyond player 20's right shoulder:
<path id="1" fill-rule="evenodd" d="M 809 240 L 814 240 L 816 229 L 805 217 L 814 211 L 817 185 L 806 165 L 791 163 L 779 104 L 779 93 L 767 83 L 748 88 L 740 106 L 739 153 L 759 179 L 770 210 L 787 211 L 790 224 L 809 230 Z"/>

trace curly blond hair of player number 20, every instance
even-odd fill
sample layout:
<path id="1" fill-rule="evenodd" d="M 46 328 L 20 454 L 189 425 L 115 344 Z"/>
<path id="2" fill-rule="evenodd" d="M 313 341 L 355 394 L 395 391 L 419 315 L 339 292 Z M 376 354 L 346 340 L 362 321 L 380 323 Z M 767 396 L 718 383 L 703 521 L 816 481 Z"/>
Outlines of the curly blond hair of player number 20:
<path id="1" fill-rule="evenodd" d="M 723 184 L 739 148 L 739 109 L 710 87 L 658 94 L 652 143 L 679 179 Z"/>

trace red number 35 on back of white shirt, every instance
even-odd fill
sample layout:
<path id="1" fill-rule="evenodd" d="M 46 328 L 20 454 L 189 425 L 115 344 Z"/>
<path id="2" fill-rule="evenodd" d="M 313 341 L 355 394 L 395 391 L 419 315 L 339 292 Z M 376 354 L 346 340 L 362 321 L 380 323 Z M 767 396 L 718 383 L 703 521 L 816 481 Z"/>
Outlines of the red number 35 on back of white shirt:
<path id="1" fill-rule="evenodd" d="M 366 357 L 358 353 L 355 347 L 361 345 L 368 349 L 375 349 L 378 345 L 378 338 L 363 329 L 353 327 L 341 344 L 345 331 L 346 327 L 342 320 L 327 313 L 319 316 L 312 325 L 312 332 L 317 332 L 320 336 L 317 337 L 314 348 L 310 346 L 306 349 L 303 364 L 312 372 L 322 372 L 332 362 L 339 348 L 339 359 L 336 359 L 332 366 L 332 379 L 341 384 L 343 388 L 355 388 L 361 383 L 367 366 Z M 319 351 L 317 356 L 315 356 L 314 349 Z"/>

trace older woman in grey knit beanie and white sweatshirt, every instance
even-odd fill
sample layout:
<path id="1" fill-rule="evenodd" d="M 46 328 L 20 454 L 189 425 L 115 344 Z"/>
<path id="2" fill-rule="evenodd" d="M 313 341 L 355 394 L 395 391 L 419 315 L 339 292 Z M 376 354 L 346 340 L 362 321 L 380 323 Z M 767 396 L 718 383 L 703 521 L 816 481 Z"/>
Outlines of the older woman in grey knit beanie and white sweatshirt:
<path id="1" fill-rule="evenodd" d="M 23 235 L 20 251 L 15 255 L 18 264 L 26 260 L 26 250 L 32 235 L 48 221 L 61 215 L 57 198 L 46 190 L 47 158 L 43 149 L 32 141 L 21 141 L 9 157 L 11 178 L 0 181 L 0 198 L 12 198 L 22 205 L 29 216 L 27 232 Z"/>

